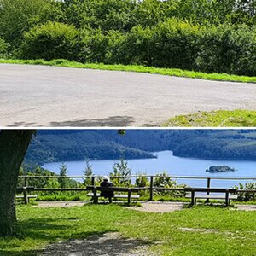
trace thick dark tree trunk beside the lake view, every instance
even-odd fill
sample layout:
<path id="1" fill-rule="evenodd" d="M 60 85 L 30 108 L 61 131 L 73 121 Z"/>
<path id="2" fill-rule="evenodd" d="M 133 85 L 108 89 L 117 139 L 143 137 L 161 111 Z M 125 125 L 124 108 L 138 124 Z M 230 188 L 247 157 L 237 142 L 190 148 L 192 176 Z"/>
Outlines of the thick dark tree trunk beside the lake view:
<path id="1" fill-rule="evenodd" d="M 34 130 L 0 130 L 0 236 L 15 231 L 15 190 Z"/>

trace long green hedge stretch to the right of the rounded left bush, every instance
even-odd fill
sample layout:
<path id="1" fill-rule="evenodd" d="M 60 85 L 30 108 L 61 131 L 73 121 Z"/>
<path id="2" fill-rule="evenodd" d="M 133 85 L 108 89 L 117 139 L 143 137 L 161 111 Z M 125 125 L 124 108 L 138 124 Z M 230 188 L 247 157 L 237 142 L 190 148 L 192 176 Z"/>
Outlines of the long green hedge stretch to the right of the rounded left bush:
<path id="1" fill-rule="evenodd" d="M 98 30 L 83 43 L 83 61 L 256 75 L 256 30 L 245 25 L 197 26 L 172 18 L 128 33 Z"/>

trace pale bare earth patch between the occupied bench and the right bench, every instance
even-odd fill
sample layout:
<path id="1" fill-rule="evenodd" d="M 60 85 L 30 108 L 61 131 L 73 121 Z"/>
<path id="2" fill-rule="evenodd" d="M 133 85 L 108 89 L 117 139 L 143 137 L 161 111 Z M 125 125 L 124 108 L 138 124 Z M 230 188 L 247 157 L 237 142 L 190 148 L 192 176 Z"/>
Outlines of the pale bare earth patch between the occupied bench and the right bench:
<path id="1" fill-rule="evenodd" d="M 174 212 L 180 211 L 184 207 L 183 202 L 176 201 L 147 201 L 141 203 L 142 207 L 127 207 L 128 209 L 140 212 Z"/>

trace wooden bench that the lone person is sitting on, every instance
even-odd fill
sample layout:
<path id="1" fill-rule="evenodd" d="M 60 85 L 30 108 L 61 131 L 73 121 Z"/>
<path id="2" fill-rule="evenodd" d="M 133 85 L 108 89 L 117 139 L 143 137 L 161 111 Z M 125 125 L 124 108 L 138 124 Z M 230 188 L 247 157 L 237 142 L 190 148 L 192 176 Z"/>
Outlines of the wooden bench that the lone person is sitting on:
<path id="1" fill-rule="evenodd" d="M 92 197 L 93 202 L 96 204 L 98 203 L 99 197 L 101 197 L 100 193 L 97 191 L 113 191 L 119 192 L 113 196 L 113 198 L 122 198 L 127 199 L 128 205 L 131 204 L 131 199 L 139 199 L 140 195 L 131 195 L 131 192 L 137 192 L 138 190 L 135 188 L 119 188 L 119 187 L 96 187 L 96 186 L 87 186 L 87 190 L 91 190 L 92 192 L 87 194 L 88 196 Z M 120 194 L 120 192 L 127 192 L 127 194 Z M 103 197 L 103 196 L 102 196 Z"/>

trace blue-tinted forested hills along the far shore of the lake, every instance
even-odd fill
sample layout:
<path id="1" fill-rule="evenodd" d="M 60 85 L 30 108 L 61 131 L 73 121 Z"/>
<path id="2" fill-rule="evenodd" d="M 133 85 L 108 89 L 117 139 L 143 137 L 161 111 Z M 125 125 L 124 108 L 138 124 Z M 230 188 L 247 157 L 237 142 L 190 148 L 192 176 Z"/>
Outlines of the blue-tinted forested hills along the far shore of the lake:
<path id="1" fill-rule="evenodd" d="M 26 161 L 136 159 L 152 152 L 206 159 L 256 160 L 256 130 L 116 130 L 38 131 Z"/>

